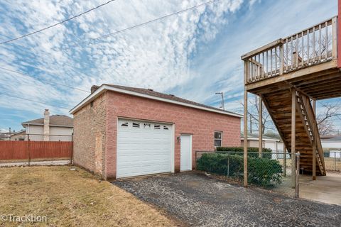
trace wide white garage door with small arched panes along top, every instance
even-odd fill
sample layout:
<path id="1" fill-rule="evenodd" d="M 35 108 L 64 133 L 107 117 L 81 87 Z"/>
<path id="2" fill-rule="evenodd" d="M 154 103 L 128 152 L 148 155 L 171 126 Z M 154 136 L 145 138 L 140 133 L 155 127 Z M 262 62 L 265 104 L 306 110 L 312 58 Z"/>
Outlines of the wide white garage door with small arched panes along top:
<path id="1" fill-rule="evenodd" d="M 119 118 L 117 178 L 171 172 L 172 125 Z"/>

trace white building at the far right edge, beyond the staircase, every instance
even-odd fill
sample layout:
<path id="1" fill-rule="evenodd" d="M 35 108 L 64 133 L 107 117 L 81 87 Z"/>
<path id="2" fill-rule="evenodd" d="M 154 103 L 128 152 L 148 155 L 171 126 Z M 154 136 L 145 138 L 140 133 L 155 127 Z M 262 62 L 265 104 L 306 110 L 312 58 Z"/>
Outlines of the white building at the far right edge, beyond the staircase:
<path id="1" fill-rule="evenodd" d="M 321 136 L 321 144 L 325 157 L 341 157 L 341 136 Z"/>

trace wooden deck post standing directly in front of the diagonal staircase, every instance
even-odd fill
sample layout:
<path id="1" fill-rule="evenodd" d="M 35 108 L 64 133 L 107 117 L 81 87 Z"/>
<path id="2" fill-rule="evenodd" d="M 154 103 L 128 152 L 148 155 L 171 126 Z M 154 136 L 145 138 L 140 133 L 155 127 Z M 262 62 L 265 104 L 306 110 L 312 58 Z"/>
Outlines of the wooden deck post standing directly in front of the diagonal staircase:
<path id="1" fill-rule="evenodd" d="M 295 187 L 295 153 L 296 153 L 296 90 L 291 89 L 291 177 Z"/>

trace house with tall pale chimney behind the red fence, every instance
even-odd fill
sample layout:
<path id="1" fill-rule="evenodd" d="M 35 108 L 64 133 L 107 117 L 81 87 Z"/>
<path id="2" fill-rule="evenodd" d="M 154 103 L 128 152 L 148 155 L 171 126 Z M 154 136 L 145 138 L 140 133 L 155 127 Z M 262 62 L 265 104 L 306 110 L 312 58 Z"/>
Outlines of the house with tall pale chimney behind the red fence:
<path id="1" fill-rule="evenodd" d="M 52 115 L 45 109 L 44 117 L 21 123 L 25 128 L 25 140 L 71 141 L 73 119 L 64 115 Z"/>

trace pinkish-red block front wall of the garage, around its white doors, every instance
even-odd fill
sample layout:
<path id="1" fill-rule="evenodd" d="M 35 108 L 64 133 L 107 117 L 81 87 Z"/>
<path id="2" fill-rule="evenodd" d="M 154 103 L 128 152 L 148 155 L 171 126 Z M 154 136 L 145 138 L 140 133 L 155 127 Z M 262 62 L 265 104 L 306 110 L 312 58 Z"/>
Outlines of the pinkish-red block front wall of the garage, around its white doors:
<path id="1" fill-rule="evenodd" d="M 175 172 L 180 171 L 180 133 L 191 133 L 195 150 L 214 150 L 214 131 L 223 131 L 224 146 L 240 146 L 240 118 L 193 109 L 128 94 L 107 92 L 105 178 L 116 177 L 117 118 L 175 123 Z"/>

